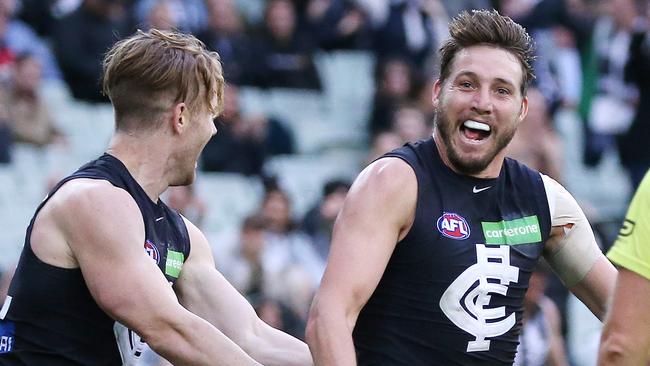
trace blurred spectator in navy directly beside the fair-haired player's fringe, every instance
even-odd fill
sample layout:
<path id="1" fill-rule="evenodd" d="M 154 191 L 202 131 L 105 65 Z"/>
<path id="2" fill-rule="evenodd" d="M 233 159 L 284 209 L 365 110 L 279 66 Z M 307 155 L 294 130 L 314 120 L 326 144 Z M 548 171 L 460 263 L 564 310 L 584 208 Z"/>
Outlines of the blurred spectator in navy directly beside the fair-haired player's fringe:
<path id="1" fill-rule="evenodd" d="M 219 52 L 226 80 L 245 85 L 253 80 L 252 41 L 245 32 L 234 0 L 206 0 L 208 26 L 199 34 L 209 49 Z"/>

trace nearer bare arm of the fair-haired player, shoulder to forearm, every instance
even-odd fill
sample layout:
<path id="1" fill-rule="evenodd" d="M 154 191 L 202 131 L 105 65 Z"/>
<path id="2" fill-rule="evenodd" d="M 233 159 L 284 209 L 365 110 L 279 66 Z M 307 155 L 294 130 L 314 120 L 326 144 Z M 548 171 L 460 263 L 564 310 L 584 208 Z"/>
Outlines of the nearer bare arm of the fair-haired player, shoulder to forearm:
<path id="1" fill-rule="evenodd" d="M 53 210 L 97 304 L 175 365 L 258 365 L 207 321 L 184 309 L 143 249 L 142 215 L 125 191 L 75 180 Z"/>

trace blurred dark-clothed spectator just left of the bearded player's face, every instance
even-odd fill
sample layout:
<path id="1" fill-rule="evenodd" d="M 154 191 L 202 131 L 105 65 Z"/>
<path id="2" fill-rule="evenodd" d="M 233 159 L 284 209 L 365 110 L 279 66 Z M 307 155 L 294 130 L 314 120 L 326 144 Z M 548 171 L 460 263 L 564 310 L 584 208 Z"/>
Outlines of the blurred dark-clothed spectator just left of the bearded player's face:
<path id="1" fill-rule="evenodd" d="M 376 90 L 368 123 L 371 136 L 391 129 L 395 110 L 409 100 L 413 80 L 413 67 L 404 58 L 386 59 L 377 64 Z"/>

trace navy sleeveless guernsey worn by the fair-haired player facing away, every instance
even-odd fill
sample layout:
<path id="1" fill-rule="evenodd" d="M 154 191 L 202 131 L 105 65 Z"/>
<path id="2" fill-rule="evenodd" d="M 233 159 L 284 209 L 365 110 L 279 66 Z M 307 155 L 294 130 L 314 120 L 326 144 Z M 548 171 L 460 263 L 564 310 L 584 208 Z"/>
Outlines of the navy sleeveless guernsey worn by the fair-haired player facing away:
<path id="1" fill-rule="evenodd" d="M 144 219 L 144 250 L 170 283 L 176 281 L 189 255 L 189 235 L 181 216 L 162 201 L 153 202 L 121 161 L 104 154 L 84 165 L 52 189 L 27 228 L 0 313 L 1 366 L 115 366 L 128 363 L 123 358 L 137 359 L 146 347 L 137 334 L 99 308 L 79 268 L 46 264 L 32 251 L 30 236 L 36 215 L 64 183 L 78 178 L 106 180 L 133 197 Z"/>

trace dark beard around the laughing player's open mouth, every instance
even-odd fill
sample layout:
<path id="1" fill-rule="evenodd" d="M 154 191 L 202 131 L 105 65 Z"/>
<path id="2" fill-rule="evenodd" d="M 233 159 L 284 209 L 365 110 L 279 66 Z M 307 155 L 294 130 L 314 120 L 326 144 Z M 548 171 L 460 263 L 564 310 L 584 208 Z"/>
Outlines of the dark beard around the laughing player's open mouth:
<path id="1" fill-rule="evenodd" d="M 464 175 L 477 175 L 484 171 L 488 165 L 494 160 L 494 157 L 505 149 L 506 146 L 510 143 L 510 140 L 515 135 L 516 128 L 506 130 L 501 136 L 497 136 L 496 144 L 489 150 L 482 158 L 475 160 L 463 160 L 463 158 L 456 152 L 451 144 L 451 134 L 455 133 L 455 126 L 452 126 L 451 122 L 447 119 L 444 110 L 438 110 L 435 115 L 435 128 L 442 141 L 444 141 L 444 149 L 449 159 L 449 162 L 452 165 L 452 168 L 458 173 Z M 494 133 L 494 131 L 492 132 Z"/>

